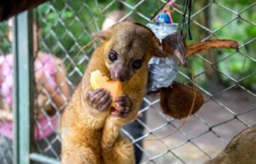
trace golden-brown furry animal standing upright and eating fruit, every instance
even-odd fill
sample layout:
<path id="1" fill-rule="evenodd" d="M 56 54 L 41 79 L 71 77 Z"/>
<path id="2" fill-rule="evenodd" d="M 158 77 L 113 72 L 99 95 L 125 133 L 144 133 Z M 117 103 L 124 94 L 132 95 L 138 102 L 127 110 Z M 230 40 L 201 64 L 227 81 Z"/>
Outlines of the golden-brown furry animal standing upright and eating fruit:
<path id="1" fill-rule="evenodd" d="M 132 122 L 143 100 L 148 61 L 165 56 L 159 42 L 144 25 L 122 22 L 96 34 L 103 42 L 96 48 L 82 82 L 64 110 L 61 120 L 62 164 L 134 164 L 130 141 L 119 134 Z M 90 73 L 100 70 L 123 82 L 124 95 L 114 101 L 104 89 L 90 88 Z"/>

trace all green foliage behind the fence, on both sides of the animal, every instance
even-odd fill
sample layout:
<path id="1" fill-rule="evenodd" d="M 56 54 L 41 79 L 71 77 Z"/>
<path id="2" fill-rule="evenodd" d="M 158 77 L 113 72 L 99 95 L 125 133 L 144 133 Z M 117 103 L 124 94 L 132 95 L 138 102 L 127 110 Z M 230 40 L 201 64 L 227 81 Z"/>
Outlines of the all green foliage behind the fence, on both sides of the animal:
<path id="1" fill-rule="evenodd" d="M 133 20 L 147 24 L 148 20 L 140 14 L 151 18 L 155 12 L 163 6 L 160 0 L 147 0 L 139 5 L 137 5 L 137 0 L 125 0 L 128 6 L 122 5 L 116 1 L 108 6 L 111 2 L 113 1 L 60 0 L 40 5 L 37 8 L 38 26 L 40 28 L 40 32 L 38 33 L 40 41 L 39 49 L 55 54 L 61 57 L 61 59 L 66 59 L 67 56 L 70 56 L 78 63 L 85 55 L 90 55 L 93 51 L 93 47 L 85 48 L 84 51 L 75 57 L 83 45 L 91 41 L 92 33 L 101 30 L 102 22 L 108 13 L 115 9 L 123 8 L 125 13 L 130 14 Z M 177 3 L 182 5 L 183 1 L 177 0 Z M 230 8 L 234 12 L 220 7 L 217 3 Z M 203 1 L 195 1 L 192 13 L 194 14 L 199 11 L 204 7 L 204 4 Z M 218 0 L 216 3 L 210 5 L 212 10 L 210 18 L 206 18 L 203 12 L 193 17 L 193 20 L 201 25 L 204 24 L 206 20 L 210 19 L 212 26 L 210 29 L 216 31 L 213 37 L 233 39 L 239 42 L 240 45 L 245 44 L 245 46 L 239 49 L 241 53 L 234 50 L 212 51 L 212 54 L 216 56 L 218 69 L 231 78 L 234 78 L 236 81 L 250 76 L 256 70 L 256 54 L 254 53 L 256 50 L 256 41 L 254 40 L 252 42 L 252 39 L 256 36 L 256 28 L 250 23 L 253 22 L 253 24 L 255 24 L 256 22 L 256 14 L 253 13 L 256 6 L 246 9 L 252 4 L 252 1 L 238 0 L 234 3 L 233 0 Z M 107 6 L 108 8 L 106 8 Z M 236 14 L 241 11 L 244 12 L 239 15 Z M 172 18 L 179 24 L 182 20 L 181 15 L 177 12 L 172 14 Z M 230 22 L 230 20 L 232 21 Z M 226 23 L 228 23 L 228 25 L 226 25 Z M 8 31 L 9 28 L 6 23 L 0 24 L 0 35 L 2 36 L 0 38 L 0 54 L 10 53 L 11 43 L 8 40 Z M 200 25 L 193 23 L 193 21 L 191 23 L 191 31 L 194 41 L 189 41 L 189 43 L 200 42 L 204 37 L 211 34 Z M 249 58 L 244 56 L 244 54 Z M 70 64 L 69 59 L 66 59 L 65 62 L 66 65 Z M 77 66 L 81 71 L 84 71 L 86 65 L 79 64 Z M 201 84 L 204 84 L 207 80 L 207 77 L 203 76 L 205 61 L 197 57 L 191 58 L 189 59 L 189 67 L 194 70 L 195 75 L 202 73 L 202 78 L 199 81 Z M 181 69 L 181 71 L 190 74 L 188 71 L 185 71 L 185 69 Z M 230 81 L 230 77 L 228 76 L 224 76 L 221 73 L 219 74 L 219 78 L 222 82 L 227 84 L 234 83 Z M 253 89 L 256 89 L 255 82 L 256 76 L 250 76 L 243 81 L 239 81 L 244 87 Z"/>

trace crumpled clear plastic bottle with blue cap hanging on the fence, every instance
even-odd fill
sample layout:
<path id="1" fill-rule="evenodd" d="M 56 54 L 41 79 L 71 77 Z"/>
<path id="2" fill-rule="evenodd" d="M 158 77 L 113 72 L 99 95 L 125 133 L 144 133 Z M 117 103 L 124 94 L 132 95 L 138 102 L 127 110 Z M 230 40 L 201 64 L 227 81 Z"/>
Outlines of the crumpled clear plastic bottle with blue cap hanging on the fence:
<path id="1" fill-rule="evenodd" d="M 170 15 L 161 13 L 156 24 L 148 24 L 147 26 L 161 42 L 162 39 L 177 31 L 178 25 L 171 22 Z M 177 59 L 174 55 L 166 58 L 153 57 L 148 63 L 148 92 L 169 87 L 176 77 Z"/>

